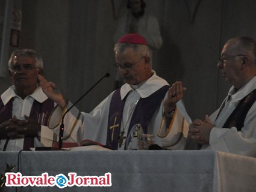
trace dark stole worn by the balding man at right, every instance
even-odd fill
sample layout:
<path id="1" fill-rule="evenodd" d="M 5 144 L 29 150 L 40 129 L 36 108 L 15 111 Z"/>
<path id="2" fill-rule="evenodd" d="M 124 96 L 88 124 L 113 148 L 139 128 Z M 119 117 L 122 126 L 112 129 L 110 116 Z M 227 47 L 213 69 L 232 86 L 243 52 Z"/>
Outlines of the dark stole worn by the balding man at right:
<path id="1" fill-rule="evenodd" d="M 255 103 L 255 101 L 256 101 L 256 89 L 254 89 L 254 91 L 250 92 L 248 95 L 246 95 L 246 97 L 244 97 L 240 101 L 236 109 L 231 113 L 228 119 L 226 119 L 226 122 L 223 125 L 223 127 L 225 128 L 236 127 L 237 131 L 241 131 L 243 127 L 243 123 L 245 122 L 246 115 L 249 109 L 251 109 L 252 105 Z"/>

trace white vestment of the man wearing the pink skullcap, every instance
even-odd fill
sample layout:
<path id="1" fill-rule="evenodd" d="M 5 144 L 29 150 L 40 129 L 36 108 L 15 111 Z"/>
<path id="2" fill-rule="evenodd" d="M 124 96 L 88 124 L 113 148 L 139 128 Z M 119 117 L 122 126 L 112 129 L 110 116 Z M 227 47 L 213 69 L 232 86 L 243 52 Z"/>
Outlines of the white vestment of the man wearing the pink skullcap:
<path id="1" fill-rule="evenodd" d="M 145 83 L 139 86 L 139 88 L 133 89 L 127 83 L 122 86 L 120 89 L 121 98 L 125 98 L 127 94 L 128 97 L 126 98 L 123 109 L 123 120 L 120 125 L 121 129 L 123 126 L 129 127 L 131 120 L 130 113 L 131 110 L 134 110 L 134 107 L 136 107 L 136 101 L 140 97 L 149 97 L 149 95 L 153 94 L 164 85 L 169 84 L 166 80 L 161 79 L 161 77 L 158 77 L 154 73 L 148 80 L 146 80 Z M 81 142 L 85 139 L 90 139 L 105 145 L 107 141 L 108 115 L 112 95 L 113 92 L 90 113 L 79 112 L 75 107 L 71 109 L 64 118 L 64 142 Z M 166 97 L 167 94 L 164 98 Z M 67 105 L 67 108 L 69 106 L 71 106 L 70 103 Z M 183 104 L 181 102 L 177 104 L 175 116 L 180 116 L 182 118 L 178 106 L 183 106 Z M 175 128 L 170 130 L 170 127 L 172 126 L 166 125 L 163 118 L 163 111 L 163 101 L 161 101 L 161 105 L 158 107 L 149 122 L 148 134 L 154 134 L 154 140 L 157 145 L 168 147 L 170 149 L 183 149 L 185 144 L 184 140 L 186 140 L 184 138 L 187 137 L 188 133 L 188 124 L 186 121 L 183 121 L 183 125 L 185 127 L 183 131 L 176 130 Z M 57 107 L 50 117 L 49 128 L 52 128 L 56 134 L 58 134 L 58 126 L 63 113 L 64 111 L 60 109 L 60 107 Z M 171 124 L 175 123 L 177 122 L 171 122 Z M 125 136 L 127 131 L 128 128 L 125 129 Z M 123 149 L 123 146 L 119 149 Z"/>

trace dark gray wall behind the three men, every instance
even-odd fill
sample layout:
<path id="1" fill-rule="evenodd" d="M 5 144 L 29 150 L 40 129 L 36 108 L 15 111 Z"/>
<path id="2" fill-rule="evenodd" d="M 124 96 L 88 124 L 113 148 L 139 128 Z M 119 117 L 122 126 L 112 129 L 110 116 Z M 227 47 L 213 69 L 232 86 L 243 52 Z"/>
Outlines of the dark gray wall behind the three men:
<path id="1" fill-rule="evenodd" d="M 229 87 L 217 70 L 229 38 L 256 38 L 254 0 L 145 0 L 146 11 L 160 23 L 163 46 L 154 51 L 154 70 L 169 83 L 181 80 L 189 115 L 204 118 L 219 107 Z M 114 8 L 113 8 L 114 5 Z M 113 34 L 125 14 L 124 0 L 17 0 L 22 10 L 20 48 L 43 58 L 45 77 L 77 100 L 105 73 L 111 76 L 77 106 L 90 112 L 113 91 Z M 13 48 L 10 47 L 10 52 Z M 10 54 L 9 52 L 9 54 Z M 0 77 L 0 92 L 11 85 Z"/>

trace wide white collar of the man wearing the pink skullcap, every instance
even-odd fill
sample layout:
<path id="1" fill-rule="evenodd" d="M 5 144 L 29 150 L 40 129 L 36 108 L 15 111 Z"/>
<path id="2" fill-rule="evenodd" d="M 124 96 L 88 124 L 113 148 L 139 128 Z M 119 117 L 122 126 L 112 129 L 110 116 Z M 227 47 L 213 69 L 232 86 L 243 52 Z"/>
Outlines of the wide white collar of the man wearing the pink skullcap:
<path id="1" fill-rule="evenodd" d="M 153 94 L 158 89 L 162 88 L 164 85 L 169 85 L 166 80 L 162 79 L 161 77 L 157 76 L 155 71 L 152 70 L 153 75 L 146 80 L 145 83 L 140 85 L 137 89 L 135 89 L 141 98 L 149 97 L 149 95 Z M 125 83 L 121 89 L 121 99 L 125 98 L 128 92 L 134 91 L 134 89 L 128 83 Z"/>

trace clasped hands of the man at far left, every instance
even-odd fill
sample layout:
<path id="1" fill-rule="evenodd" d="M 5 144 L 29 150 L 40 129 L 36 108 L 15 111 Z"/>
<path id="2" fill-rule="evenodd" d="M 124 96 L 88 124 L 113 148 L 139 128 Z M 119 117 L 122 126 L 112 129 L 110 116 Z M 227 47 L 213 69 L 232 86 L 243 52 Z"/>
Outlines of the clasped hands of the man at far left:
<path id="1" fill-rule="evenodd" d="M 26 115 L 24 117 L 25 120 L 20 120 L 13 116 L 13 118 L 2 122 L 0 125 L 0 139 L 36 137 L 41 130 L 41 125 Z"/>

